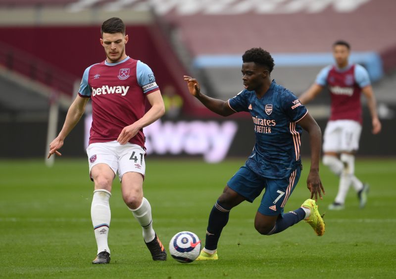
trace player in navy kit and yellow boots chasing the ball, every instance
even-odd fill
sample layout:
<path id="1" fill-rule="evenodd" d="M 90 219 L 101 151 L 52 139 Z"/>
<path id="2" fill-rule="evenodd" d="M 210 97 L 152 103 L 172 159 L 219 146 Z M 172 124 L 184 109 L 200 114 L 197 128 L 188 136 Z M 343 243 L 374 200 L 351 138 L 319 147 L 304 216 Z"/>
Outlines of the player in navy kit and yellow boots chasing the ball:
<path id="1" fill-rule="evenodd" d="M 265 188 L 255 215 L 254 227 L 261 235 L 280 233 L 305 220 L 318 236 L 325 224 L 315 200 L 324 189 L 319 177 L 322 134 L 318 124 L 288 89 L 271 80 L 271 55 L 262 48 L 251 48 L 242 56 L 245 89 L 228 101 L 210 98 L 200 92 L 196 79 L 184 76 L 190 93 L 209 110 L 221 116 L 248 112 L 254 123 L 256 143 L 246 164 L 227 182 L 210 214 L 205 246 L 198 260 L 217 260 L 217 243 L 230 210 L 247 200 L 252 202 Z M 289 213 L 283 208 L 301 174 L 300 136 L 309 133 L 311 166 L 307 178 L 310 198 Z M 315 200 L 314 200 L 315 199 Z"/>

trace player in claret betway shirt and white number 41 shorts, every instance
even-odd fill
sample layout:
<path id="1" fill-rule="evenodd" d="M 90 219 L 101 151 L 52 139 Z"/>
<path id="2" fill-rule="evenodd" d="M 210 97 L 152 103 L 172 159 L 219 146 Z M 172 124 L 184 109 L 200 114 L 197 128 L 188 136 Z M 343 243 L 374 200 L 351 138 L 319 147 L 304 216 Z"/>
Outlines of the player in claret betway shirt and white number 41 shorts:
<path id="1" fill-rule="evenodd" d="M 119 18 L 101 26 L 100 43 L 106 59 L 88 67 L 79 93 L 71 104 L 59 135 L 49 146 L 49 157 L 60 156 L 63 141 L 92 100 L 92 128 L 87 154 L 95 191 L 91 206 L 92 224 L 98 244 L 93 264 L 110 262 L 107 236 L 110 227 L 111 185 L 121 181 L 122 198 L 143 228 L 143 238 L 153 260 L 166 260 L 166 251 L 152 228 L 151 206 L 143 197 L 145 136 L 143 127 L 159 119 L 164 104 L 151 69 L 125 54 L 128 35 Z M 146 98 L 151 108 L 145 113 Z"/>

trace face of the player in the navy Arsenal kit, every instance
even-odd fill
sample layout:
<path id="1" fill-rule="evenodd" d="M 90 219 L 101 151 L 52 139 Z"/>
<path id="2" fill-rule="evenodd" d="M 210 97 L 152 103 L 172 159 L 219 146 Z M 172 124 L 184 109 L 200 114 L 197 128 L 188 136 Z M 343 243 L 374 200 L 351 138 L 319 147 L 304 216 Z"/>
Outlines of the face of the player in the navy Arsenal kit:
<path id="1" fill-rule="evenodd" d="M 257 65 L 254 62 L 246 62 L 242 64 L 242 80 L 245 85 L 245 89 L 252 91 L 260 88 L 265 80 L 266 74 L 268 73 L 262 66 Z"/>

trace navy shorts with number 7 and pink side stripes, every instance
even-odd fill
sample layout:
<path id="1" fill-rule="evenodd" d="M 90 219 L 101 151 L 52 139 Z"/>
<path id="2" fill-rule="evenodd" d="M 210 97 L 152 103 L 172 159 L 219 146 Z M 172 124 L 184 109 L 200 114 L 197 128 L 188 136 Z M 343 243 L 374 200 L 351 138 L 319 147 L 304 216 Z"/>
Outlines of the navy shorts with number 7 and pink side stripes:
<path id="1" fill-rule="evenodd" d="M 257 211 L 263 215 L 274 216 L 283 214 L 283 208 L 292 195 L 300 175 L 301 167 L 298 166 L 286 178 L 266 178 L 257 175 L 245 165 L 231 177 L 227 185 L 249 202 L 253 202 L 265 188 Z"/>

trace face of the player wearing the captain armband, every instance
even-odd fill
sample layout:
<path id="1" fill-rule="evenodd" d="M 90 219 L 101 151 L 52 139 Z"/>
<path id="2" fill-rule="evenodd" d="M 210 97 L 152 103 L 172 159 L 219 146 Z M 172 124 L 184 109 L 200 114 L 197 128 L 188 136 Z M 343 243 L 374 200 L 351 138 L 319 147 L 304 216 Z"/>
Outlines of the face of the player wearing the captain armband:
<path id="1" fill-rule="evenodd" d="M 103 33 L 100 39 L 101 45 L 106 52 L 107 62 L 116 63 L 127 56 L 125 54 L 125 44 L 128 42 L 128 35 L 124 36 L 122 33 Z"/>

